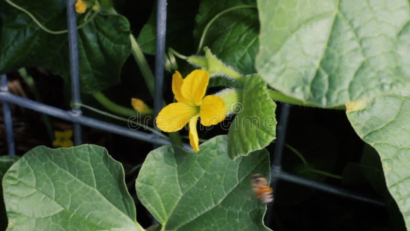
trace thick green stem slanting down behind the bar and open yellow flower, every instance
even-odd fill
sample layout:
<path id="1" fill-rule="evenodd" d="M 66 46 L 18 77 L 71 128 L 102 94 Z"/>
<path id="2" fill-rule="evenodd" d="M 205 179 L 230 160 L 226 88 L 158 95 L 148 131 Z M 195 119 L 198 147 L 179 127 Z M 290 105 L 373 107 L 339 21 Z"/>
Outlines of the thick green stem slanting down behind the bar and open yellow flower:
<path id="1" fill-rule="evenodd" d="M 139 48 L 137 41 L 135 40 L 134 35 L 130 34 L 131 39 L 131 53 L 134 56 L 135 61 L 139 69 L 141 70 L 142 76 L 144 76 L 145 83 L 147 84 L 148 90 L 151 95 L 154 96 L 154 75 L 152 74 L 151 68 L 148 65 L 147 60 L 145 59 L 144 53 L 142 53 L 141 48 Z M 165 104 L 165 101 L 163 102 Z M 169 132 L 169 137 L 172 144 L 182 147 L 182 140 L 179 136 L 179 132 Z"/>

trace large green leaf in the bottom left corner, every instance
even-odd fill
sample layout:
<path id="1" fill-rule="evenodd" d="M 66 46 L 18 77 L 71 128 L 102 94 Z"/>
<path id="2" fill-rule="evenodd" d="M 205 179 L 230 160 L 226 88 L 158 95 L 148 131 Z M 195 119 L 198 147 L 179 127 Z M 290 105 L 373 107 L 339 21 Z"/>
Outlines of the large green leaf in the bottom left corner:
<path id="1" fill-rule="evenodd" d="M 124 169 L 103 147 L 33 148 L 3 188 L 8 230 L 143 230 Z"/>

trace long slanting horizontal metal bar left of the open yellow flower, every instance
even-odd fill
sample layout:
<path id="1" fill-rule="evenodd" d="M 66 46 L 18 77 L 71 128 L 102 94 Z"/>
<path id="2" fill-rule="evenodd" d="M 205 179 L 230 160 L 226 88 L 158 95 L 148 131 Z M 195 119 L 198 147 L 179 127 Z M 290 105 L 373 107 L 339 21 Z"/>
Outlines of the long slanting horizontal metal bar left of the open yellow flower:
<path id="1" fill-rule="evenodd" d="M 30 99 L 19 97 L 10 92 L 0 92 L 0 100 L 16 104 L 34 111 L 45 113 L 63 120 L 71 121 L 73 123 L 78 123 L 92 128 L 109 131 L 115 134 L 138 139 L 141 141 L 146 141 L 152 144 L 171 144 L 171 141 L 169 139 L 158 137 L 153 133 L 131 130 L 128 127 L 122 127 L 104 121 L 85 117 L 84 115 L 76 114 L 71 111 L 65 111 Z M 186 147 L 187 145 L 184 146 Z"/>

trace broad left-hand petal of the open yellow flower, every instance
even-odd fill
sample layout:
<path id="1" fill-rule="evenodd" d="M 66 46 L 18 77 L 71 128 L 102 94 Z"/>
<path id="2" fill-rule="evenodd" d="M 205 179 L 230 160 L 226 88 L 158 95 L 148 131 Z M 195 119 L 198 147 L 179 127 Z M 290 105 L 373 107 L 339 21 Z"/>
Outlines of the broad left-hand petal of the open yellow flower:
<path id="1" fill-rule="evenodd" d="M 199 114 L 199 107 L 178 102 L 162 108 L 155 119 L 157 128 L 172 132 L 183 128 L 190 119 Z"/>

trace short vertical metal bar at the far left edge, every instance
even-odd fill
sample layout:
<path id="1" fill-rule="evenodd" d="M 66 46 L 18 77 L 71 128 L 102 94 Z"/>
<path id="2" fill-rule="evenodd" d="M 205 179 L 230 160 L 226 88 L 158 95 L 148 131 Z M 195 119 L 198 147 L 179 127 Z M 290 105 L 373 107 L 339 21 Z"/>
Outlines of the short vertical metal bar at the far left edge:
<path id="1" fill-rule="evenodd" d="M 7 92 L 9 91 L 9 87 L 7 84 L 7 76 L 2 74 L 0 77 L 0 90 Z M 3 119 L 4 119 L 4 128 L 6 131 L 6 140 L 7 140 L 7 148 L 9 151 L 9 155 L 16 155 L 14 149 L 14 133 L 13 133 L 13 119 L 11 118 L 11 108 L 10 104 L 6 101 L 3 101 Z"/>

